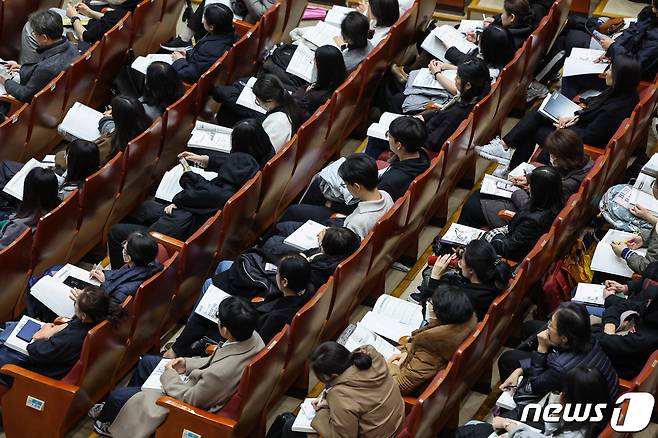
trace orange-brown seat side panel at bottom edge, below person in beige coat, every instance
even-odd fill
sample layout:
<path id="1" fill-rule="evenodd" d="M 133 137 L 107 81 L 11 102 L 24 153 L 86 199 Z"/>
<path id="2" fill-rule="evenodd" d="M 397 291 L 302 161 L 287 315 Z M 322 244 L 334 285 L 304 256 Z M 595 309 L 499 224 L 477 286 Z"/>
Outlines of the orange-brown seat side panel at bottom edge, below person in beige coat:
<path id="1" fill-rule="evenodd" d="M 167 419 L 156 431 L 156 438 L 182 436 L 183 430 L 203 437 L 228 438 L 237 424 L 235 420 L 212 414 L 172 397 L 160 397 L 156 403 L 169 410 Z"/>

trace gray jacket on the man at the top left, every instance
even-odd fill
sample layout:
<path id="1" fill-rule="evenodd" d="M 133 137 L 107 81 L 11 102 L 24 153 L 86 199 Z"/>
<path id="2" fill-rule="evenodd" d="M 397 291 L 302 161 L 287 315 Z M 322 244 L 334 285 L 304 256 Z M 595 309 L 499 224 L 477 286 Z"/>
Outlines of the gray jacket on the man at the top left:
<path id="1" fill-rule="evenodd" d="M 21 67 L 20 84 L 13 80 L 5 82 L 7 94 L 21 102 L 31 102 L 35 94 L 80 56 L 78 49 L 65 39 L 47 48 L 39 48 L 37 53 L 40 57 L 36 63 Z"/>

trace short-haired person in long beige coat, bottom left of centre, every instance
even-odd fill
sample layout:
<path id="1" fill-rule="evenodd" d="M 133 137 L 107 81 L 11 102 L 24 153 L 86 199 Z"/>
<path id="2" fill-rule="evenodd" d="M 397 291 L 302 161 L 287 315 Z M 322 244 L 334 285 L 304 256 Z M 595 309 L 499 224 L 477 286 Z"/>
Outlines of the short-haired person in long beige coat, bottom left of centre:
<path id="1" fill-rule="evenodd" d="M 199 409 L 217 412 L 238 389 L 244 368 L 265 345 L 255 332 L 257 314 L 250 303 L 229 297 L 217 311 L 219 334 L 226 339 L 210 357 L 179 357 L 166 365 L 160 376 L 164 395 Z M 152 436 L 169 411 L 156 406 L 159 391 L 141 386 L 162 358 L 144 356 L 128 386 L 112 391 L 104 403 L 89 411 L 94 430 L 103 436 Z M 183 381 L 181 375 L 188 379 Z"/>

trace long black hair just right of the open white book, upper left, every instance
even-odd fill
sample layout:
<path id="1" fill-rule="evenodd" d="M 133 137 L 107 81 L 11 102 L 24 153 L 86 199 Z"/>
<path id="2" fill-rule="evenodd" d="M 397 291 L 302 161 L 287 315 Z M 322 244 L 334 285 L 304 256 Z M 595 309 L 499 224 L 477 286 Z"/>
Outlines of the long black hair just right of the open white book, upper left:
<path id="1" fill-rule="evenodd" d="M 131 96 L 112 98 L 112 118 L 116 127 L 112 136 L 112 155 L 123 151 L 151 124 L 141 102 Z"/>

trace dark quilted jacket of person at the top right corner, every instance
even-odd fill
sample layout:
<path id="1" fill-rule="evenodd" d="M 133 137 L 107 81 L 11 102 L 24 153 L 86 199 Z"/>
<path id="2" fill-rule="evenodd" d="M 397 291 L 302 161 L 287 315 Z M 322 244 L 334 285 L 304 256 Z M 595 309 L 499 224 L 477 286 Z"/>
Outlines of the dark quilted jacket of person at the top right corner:
<path id="1" fill-rule="evenodd" d="M 642 65 L 642 79 L 653 81 L 658 73 L 658 18 L 651 6 L 642 9 L 637 15 L 637 22 L 608 47 L 606 55 L 614 59 L 617 55 L 635 57 Z"/>

